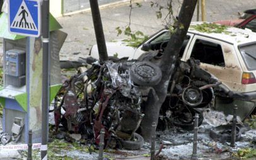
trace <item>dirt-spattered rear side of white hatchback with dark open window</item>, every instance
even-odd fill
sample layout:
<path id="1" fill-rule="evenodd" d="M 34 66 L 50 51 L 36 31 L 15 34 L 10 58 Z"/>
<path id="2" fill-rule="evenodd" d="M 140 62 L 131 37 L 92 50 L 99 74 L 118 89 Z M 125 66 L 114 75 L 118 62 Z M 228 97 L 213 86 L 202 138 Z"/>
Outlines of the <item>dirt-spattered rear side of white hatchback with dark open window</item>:
<path id="1" fill-rule="evenodd" d="M 232 44 L 195 35 L 185 60 L 201 61 L 202 69 L 218 77 L 233 91 L 241 89 L 242 69 Z"/>

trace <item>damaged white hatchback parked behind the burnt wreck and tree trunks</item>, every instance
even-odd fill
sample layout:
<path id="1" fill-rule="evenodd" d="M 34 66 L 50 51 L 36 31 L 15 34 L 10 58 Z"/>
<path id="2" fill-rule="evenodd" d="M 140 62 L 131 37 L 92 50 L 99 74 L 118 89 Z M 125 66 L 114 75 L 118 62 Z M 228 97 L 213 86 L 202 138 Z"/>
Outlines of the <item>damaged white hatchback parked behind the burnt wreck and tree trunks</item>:
<path id="1" fill-rule="evenodd" d="M 192 23 L 192 25 L 201 24 L 201 22 Z M 227 29 L 229 32 L 227 33 L 204 33 L 201 31 L 197 31 L 194 28 L 190 28 L 187 37 L 187 44 L 183 49 L 183 55 L 181 59 L 183 61 L 187 61 L 190 57 L 193 57 L 195 54 L 193 49 L 202 43 L 203 49 L 197 47 L 197 51 L 206 52 L 212 50 L 212 52 L 223 53 L 223 64 L 210 64 L 201 60 L 202 69 L 206 69 L 211 74 L 216 76 L 223 84 L 226 84 L 231 91 L 238 91 L 242 93 L 255 93 L 256 99 L 256 68 L 253 67 L 255 62 L 252 61 L 252 57 L 255 56 L 256 59 L 256 33 L 247 30 L 241 30 L 239 28 L 229 27 Z M 143 44 L 151 43 L 161 39 L 161 35 L 167 33 L 168 30 L 160 30 L 151 37 L 148 38 Z M 209 45 L 207 44 L 209 42 Z M 126 46 L 125 42 L 107 42 L 107 52 L 108 56 L 113 56 L 115 54 L 121 57 L 129 57 L 129 59 L 137 59 L 141 54 L 146 53 L 146 51 L 141 50 L 143 44 L 139 45 L 137 48 Z M 212 45 L 213 44 L 213 45 Z M 217 49 L 214 49 L 214 45 L 216 45 Z M 250 50 L 250 54 L 253 56 L 248 57 L 250 55 L 241 54 L 243 52 L 243 48 L 247 49 L 247 46 L 255 45 L 253 47 L 253 51 Z M 213 47 L 212 47 L 213 46 Z M 245 47 L 243 47 L 245 46 Z M 247 47 L 247 48 L 246 48 Z M 214 53 L 209 52 L 209 54 L 204 54 L 204 58 L 208 58 L 208 60 L 214 59 L 216 57 Z M 244 52 L 243 52 L 244 53 Z M 90 55 L 98 59 L 98 49 L 96 45 L 93 45 Z M 212 56 L 209 58 L 209 56 Z M 208 57 L 207 57 L 208 56 Z M 197 57 L 199 60 L 201 56 L 197 56 L 195 54 L 194 57 Z M 195 59 L 197 59 L 195 58 Z M 249 59 L 249 60 L 247 60 Z M 253 58 L 254 59 L 254 58 Z M 216 59 L 218 61 L 218 59 Z M 248 61 L 248 62 L 245 62 Z M 248 81 L 247 81 L 248 80 Z M 251 83 L 252 81 L 253 83 Z"/>

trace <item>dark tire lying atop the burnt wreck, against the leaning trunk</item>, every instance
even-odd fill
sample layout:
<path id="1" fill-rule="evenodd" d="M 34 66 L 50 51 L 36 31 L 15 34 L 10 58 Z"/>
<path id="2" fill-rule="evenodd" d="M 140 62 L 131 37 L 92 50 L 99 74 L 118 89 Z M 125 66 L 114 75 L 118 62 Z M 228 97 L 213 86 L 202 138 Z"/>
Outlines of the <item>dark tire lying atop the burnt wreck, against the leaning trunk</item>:
<path id="1" fill-rule="evenodd" d="M 155 86 L 160 83 L 162 72 L 160 67 L 151 62 L 135 62 L 131 66 L 130 76 L 139 86 Z"/>

